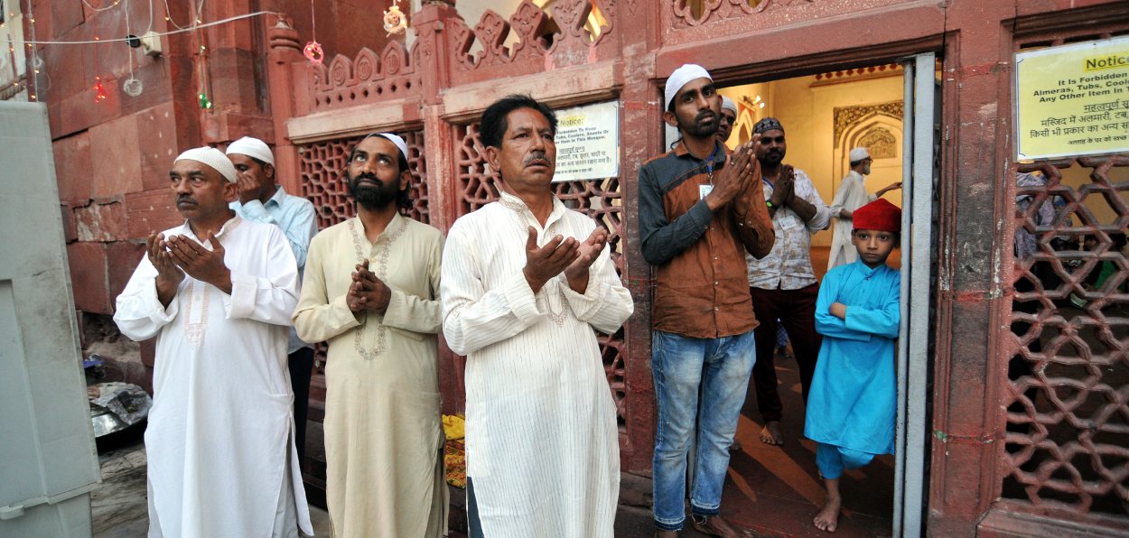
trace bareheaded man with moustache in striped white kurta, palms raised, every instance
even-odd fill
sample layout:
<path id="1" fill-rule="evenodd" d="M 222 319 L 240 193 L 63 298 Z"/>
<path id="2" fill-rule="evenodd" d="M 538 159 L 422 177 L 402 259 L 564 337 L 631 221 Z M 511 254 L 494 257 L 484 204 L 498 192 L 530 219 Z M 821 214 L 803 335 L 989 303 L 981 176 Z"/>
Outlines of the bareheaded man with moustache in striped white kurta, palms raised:
<path id="1" fill-rule="evenodd" d="M 443 258 L 443 330 L 466 361 L 471 536 L 610 537 L 615 405 L 593 332 L 631 315 L 607 232 L 552 193 L 553 112 L 509 96 L 481 138 L 501 200 L 460 218 Z"/>

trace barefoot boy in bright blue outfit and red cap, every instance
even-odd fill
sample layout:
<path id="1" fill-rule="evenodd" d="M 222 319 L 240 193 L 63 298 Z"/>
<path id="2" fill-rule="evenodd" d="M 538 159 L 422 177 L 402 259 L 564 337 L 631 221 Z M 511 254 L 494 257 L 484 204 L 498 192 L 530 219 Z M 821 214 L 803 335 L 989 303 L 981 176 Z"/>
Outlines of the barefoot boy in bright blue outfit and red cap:
<path id="1" fill-rule="evenodd" d="M 829 532 L 839 524 L 843 469 L 894 451 L 901 275 L 886 265 L 886 257 L 898 246 L 902 212 L 878 199 L 852 218 L 858 261 L 829 271 L 815 302 L 823 346 L 804 425 L 804 435 L 819 443 L 815 462 L 828 487 L 826 504 L 813 522 Z"/>

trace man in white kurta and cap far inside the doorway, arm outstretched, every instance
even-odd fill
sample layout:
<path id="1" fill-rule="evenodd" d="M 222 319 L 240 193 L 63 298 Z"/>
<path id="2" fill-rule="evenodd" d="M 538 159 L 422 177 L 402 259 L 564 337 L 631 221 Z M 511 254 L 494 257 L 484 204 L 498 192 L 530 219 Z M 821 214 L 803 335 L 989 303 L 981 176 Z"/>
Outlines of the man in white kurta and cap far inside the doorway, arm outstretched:
<path id="1" fill-rule="evenodd" d="M 866 148 L 850 150 L 850 171 L 843 177 L 831 201 L 831 217 L 835 219 L 835 229 L 831 236 L 831 255 L 828 256 L 828 271 L 840 265 L 855 263 L 858 250 L 851 245 L 851 214 L 855 210 L 874 202 L 889 191 L 902 188 L 902 182 L 892 183 L 870 194 L 866 192 L 864 179 L 870 175 L 870 152 Z"/>

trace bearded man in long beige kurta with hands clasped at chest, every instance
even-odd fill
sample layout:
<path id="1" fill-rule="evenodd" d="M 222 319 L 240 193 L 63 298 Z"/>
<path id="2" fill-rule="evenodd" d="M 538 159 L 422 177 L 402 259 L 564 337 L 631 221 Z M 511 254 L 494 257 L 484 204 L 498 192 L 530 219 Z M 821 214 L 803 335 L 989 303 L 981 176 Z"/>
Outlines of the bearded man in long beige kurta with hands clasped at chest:
<path id="1" fill-rule="evenodd" d="M 326 502 L 338 537 L 447 533 L 439 412 L 443 235 L 411 206 L 408 145 L 369 134 L 345 169 L 357 217 L 309 244 L 295 328 L 329 342 Z"/>

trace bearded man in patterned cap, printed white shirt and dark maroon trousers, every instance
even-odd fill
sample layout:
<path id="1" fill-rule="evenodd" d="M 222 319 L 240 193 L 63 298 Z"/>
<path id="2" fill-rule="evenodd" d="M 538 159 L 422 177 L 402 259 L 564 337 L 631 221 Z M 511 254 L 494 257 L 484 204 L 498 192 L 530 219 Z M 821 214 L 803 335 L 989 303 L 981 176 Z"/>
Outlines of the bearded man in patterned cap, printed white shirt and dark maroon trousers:
<path id="1" fill-rule="evenodd" d="M 768 256 L 746 258 L 753 310 L 761 320 L 760 327 L 756 327 L 753 387 L 756 406 L 764 418 L 761 441 L 779 446 L 784 444 L 780 432 L 784 406 L 777 391 L 772 361 L 777 320 L 788 330 L 799 370 L 802 396 L 807 402 L 821 339 L 815 332 L 815 299 L 820 284 L 812 271 L 812 235 L 826 229 L 831 222 L 831 210 L 820 199 L 804 170 L 784 164 L 788 147 L 779 121 L 765 117 L 756 122 L 753 133 L 760 134 L 753 150 L 761 164 L 762 192 L 777 238 Z"/>

